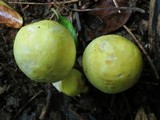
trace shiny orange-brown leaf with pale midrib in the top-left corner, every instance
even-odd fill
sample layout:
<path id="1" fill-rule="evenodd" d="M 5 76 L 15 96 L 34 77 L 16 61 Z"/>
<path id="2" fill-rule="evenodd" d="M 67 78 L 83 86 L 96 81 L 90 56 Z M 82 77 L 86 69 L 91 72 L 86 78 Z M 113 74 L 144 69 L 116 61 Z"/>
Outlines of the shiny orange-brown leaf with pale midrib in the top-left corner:
<path id="1" fill-rule="evenodd" d="M 23 24 L 23 19 L 19 13 L 1 1 L 0 23 L 5 24 L 8 27 L 20 28 Z"/>

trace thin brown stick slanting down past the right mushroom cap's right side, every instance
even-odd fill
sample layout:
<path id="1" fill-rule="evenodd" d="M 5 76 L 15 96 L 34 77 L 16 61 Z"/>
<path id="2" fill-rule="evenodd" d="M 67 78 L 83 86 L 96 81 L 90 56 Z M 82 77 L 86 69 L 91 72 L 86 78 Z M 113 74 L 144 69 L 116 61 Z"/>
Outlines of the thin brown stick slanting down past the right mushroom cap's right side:
<path id="1" fill-rule="evenodd" d="M 157 71 L 157 68 L 155 67 L 151 57 L 148 55 L 147 51 L 144 49 L 144 47 L 141 45 L 141 43 L 139 42 L 139 40 L 136 38 L 136 36 L 130 31 L 130 29 L 126 26 L 123 25 L 124 29 L 131 35 L 131 37 L 134 39 L 134 41 L 137 43 L 137 45 L 139 46 L 139 48 L 142 50 L 142 52 L 144 53 L 144 55 L 146 56 L 147 60 L 149 61 L 155 75 L 156 78 L 159 79 L 159 73 Z"/>

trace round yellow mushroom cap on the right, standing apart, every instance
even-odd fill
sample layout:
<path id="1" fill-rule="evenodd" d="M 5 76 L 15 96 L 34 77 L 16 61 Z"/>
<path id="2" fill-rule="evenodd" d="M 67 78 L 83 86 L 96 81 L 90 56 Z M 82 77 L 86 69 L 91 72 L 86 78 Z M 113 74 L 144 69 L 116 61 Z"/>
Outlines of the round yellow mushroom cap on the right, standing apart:
<path id="1" fill-rule="evenodd" d="M 93 86 L 105 93 L 119 93 L 137 82 L 143 60 L 138 47 L 128 39 L 105 35 L 86 47 L 82 64 Z"/>

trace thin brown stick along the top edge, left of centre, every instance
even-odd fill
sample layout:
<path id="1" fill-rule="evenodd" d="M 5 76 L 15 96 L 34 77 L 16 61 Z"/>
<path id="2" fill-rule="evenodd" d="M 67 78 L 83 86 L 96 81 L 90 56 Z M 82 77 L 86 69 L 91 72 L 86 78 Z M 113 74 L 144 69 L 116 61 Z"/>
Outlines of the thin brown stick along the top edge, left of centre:
<path id="1" fill-rule="evenodd" d="M 54 5 L 54 4 L 67 4 L 67 3 L 75 3 L 79 0 L 70 0 L 70 1 L 63 1 L 63 2 L 49 2 L 49 3 L 36 3 L 36 2 L 12 2 L 8 1 L 10 4 L 24 4 L 24 5 Z"/>

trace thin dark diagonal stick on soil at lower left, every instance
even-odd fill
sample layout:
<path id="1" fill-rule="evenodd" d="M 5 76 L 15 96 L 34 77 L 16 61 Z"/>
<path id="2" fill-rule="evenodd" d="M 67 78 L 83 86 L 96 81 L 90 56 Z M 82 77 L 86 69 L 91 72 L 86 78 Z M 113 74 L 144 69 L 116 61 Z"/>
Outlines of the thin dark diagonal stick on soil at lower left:
<path id="1" fill-rule="evenodd" d="M 16 118 L 18 117 L 18 115 L 37 97 L 37 96 L 39 96 L 41 93 L 43 92 L 43 90 L 41 90 L 41 91 L 39 91 L 37 94 L 35 94 L 32 98 L 30 98 L 29 100 L 28 100 L 28 102 L 24 105 L 24 106 L 22 106 L 22 108 L 18 111 L 18 113 L 15 115 L 15 118 L 14 118 L 14 120 L 16 120 Z"/>

